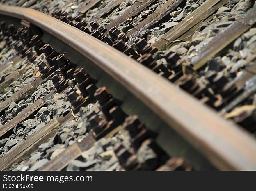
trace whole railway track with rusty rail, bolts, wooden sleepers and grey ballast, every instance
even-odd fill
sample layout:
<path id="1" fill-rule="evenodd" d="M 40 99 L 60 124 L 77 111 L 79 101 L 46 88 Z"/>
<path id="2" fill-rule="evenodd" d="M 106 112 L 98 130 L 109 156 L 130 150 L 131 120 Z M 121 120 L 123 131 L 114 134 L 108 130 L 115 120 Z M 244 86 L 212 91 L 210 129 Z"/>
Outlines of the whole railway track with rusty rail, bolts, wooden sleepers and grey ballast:
<path id="1" fill-rule="evenodd" d="M 3 3 L 1 170 L 256 168 L 255 2 Z"/>

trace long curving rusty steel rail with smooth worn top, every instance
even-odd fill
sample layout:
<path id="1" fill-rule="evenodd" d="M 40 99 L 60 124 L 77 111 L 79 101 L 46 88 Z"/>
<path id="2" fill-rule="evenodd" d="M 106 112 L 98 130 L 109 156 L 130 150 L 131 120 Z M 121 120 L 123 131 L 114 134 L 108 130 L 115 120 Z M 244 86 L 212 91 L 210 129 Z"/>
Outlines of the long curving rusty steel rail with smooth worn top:
<path id="1" fill-rule="evenodd" d="M 145 66 L 79 29 L 36 10 L 0 5 L 0 14 L 25 19 L 89 58 L 218 169 L 256 169 L 253 136 Z"/>

